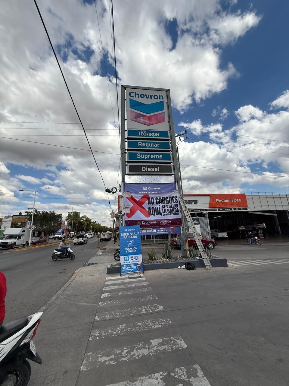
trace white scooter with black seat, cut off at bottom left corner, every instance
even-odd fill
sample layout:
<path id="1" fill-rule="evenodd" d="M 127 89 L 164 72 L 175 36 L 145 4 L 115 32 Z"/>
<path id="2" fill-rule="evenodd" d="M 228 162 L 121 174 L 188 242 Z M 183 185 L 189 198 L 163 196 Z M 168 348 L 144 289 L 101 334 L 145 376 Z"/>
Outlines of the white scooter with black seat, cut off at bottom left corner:
<path id="1" fill-rule="evenodd" d="M 0 327 L 0 385 L 26 386 L 31 375 L 30 361 L 42 364 L 35 337 L 42 312 L 5 323 Z"/>

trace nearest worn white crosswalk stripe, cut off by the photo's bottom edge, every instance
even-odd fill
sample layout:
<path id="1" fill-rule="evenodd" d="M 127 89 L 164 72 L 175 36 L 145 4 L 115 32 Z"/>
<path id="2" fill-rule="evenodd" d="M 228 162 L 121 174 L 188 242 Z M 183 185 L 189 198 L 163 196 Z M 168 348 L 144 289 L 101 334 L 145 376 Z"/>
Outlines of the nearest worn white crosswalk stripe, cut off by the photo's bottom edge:
<path id="1" fill-rule="evenodd" d="M 111 383 L 107 386 L 211 386 L 205 374 L 198 364 L 188 367 L 180 367 L 171 371 L 157 372 L 145 377 L 133 379 L 133 381 L 124 381 Z"/>

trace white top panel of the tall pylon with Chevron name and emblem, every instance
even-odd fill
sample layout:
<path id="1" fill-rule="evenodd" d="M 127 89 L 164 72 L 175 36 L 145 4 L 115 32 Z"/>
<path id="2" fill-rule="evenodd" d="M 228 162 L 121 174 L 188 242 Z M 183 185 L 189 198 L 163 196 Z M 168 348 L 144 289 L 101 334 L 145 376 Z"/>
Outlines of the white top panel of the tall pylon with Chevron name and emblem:
<path id="1" fill-rule="evenodd" d="M 127 129 L 168 130 L 166 91 L 126 88 Z"/>

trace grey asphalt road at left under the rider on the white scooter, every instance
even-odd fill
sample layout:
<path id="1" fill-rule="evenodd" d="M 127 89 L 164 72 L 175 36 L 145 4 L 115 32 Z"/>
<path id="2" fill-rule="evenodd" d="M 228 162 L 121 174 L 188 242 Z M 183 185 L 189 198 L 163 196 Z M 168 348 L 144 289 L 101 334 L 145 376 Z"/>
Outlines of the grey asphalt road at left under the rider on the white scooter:
<path id="1" fill-rule="evenodd" d="M 51 298 L 96 253 L 98 239 L 87 244 L 73 245 L 76 258 L 52 261 L 57 245 L 29 251 L 15 249 L 2 251 L 0 270 L 7 278 L 5 322 L 31 315 Z"/>

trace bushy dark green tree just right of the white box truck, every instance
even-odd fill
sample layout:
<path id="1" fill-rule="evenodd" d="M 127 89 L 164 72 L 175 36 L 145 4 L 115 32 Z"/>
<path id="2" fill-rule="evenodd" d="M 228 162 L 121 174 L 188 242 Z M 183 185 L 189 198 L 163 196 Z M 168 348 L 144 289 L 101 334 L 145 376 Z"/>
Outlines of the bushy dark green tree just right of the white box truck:
<path id="1" fill-rule="evenodd" d="M 31 222 L 32 213 L 29 213 L 28 218 Z M 37 230 L 41 230 L 42 232 L 46 232 L 47 236 L 50 233 L 55 233 L 57 229 L 61 227 L 62 222 L 62 214 L 56 213 L 54 210 L 51 212 L 47 212 L 45 210 L 37 210 L 35 209 L 34 217 L 33 217 L 33 225 Z M 47 242 L 49 238 L 47 237 Z"/>

